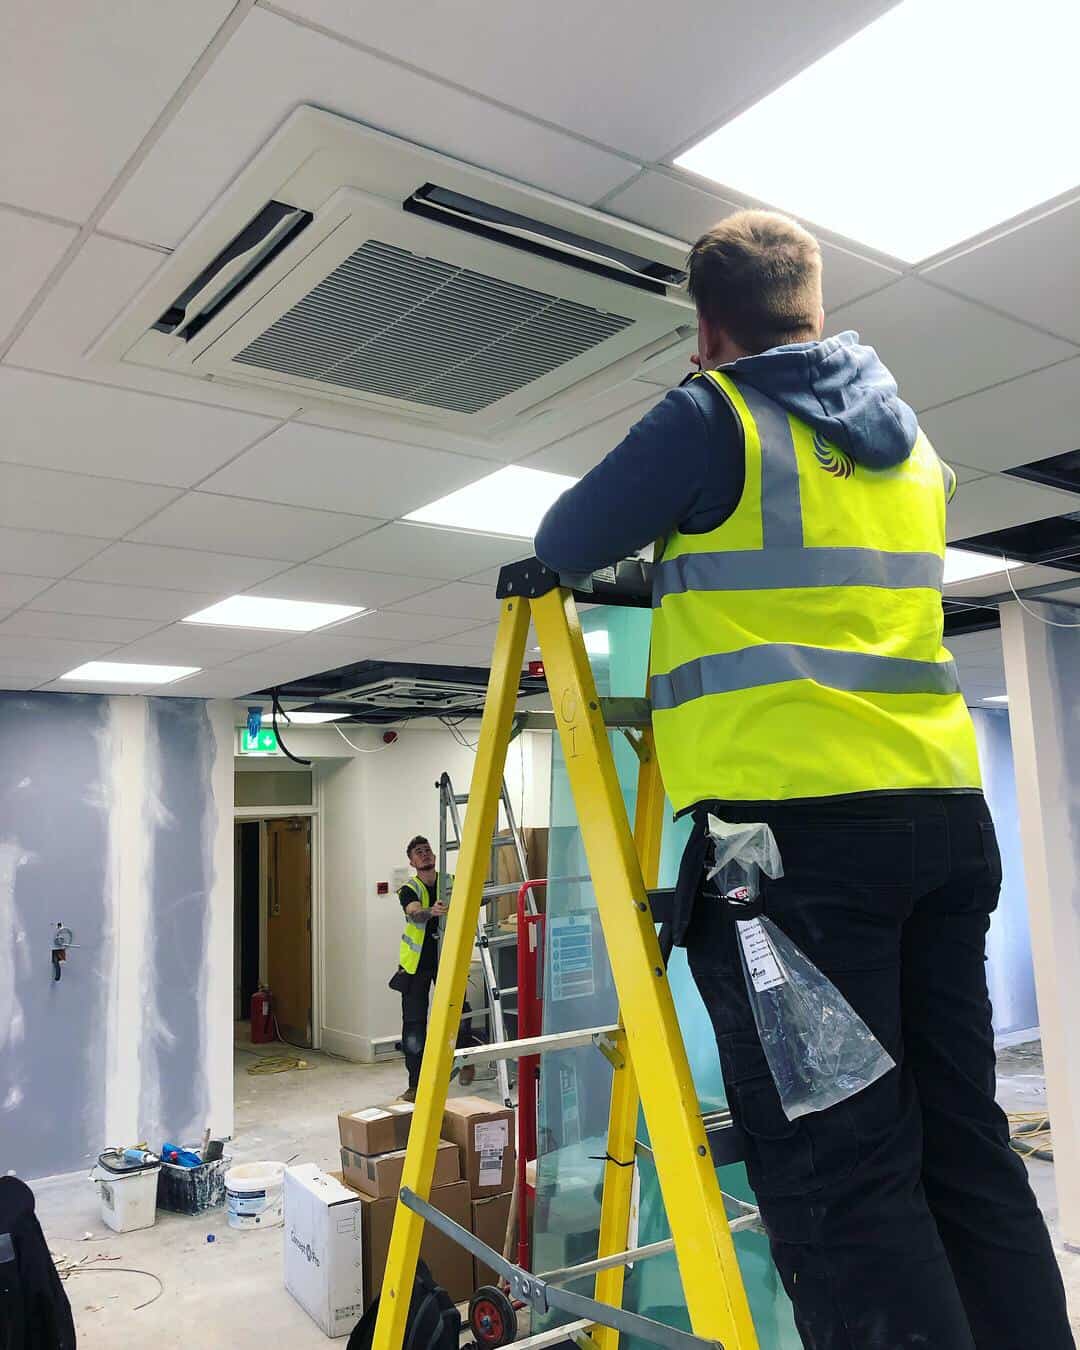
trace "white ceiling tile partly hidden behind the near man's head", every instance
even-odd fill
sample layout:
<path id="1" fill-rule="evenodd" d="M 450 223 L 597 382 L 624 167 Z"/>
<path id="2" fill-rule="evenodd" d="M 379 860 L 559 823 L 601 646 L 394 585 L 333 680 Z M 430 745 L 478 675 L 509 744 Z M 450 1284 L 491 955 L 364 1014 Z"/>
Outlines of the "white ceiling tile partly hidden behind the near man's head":
<path id="1" fill-rule="evenodd" d="M 713 196 L 693 182 L 651 169 L 636 182 L 616 193 L 605 202 L 603 209 L 672 235 L 675 239 L 684 239 L 688 247 L 710 225 L 724 216 L 730 216 L 740 207 L 724 197 Z M 828 331 L 834 327 L 829 321 L 833 309 L 888 285 L 899 275 L 892 267 L 872 262 L 869 258 L 860 258 L 859 254 L 825 239 L 821 240 L 821 256 Z"/>

